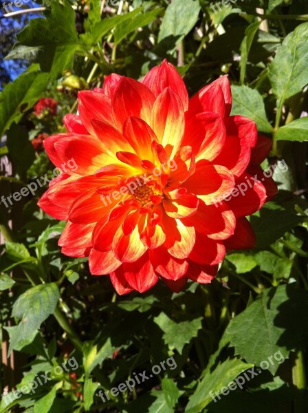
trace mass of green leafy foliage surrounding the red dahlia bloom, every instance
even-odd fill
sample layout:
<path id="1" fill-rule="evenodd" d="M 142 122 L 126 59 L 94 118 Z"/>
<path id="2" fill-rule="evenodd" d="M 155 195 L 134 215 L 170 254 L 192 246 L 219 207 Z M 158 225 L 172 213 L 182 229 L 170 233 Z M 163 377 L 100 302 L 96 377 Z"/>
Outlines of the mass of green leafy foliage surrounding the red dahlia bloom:
<path id="1" fill-rule="evenodd" d="M 305 413 L 307 3 L 215 1 L 217 12 L 207 0 L 43 4 L 6 56 L 29 67 L 0 95 L 1 165 L 12 163 L 12 176 L 1 173 L 1 195 L 54 178 L 43 147 L 31 142 L 65 131 L 62 117 L 76 113 L 80 89 L 101 87 L 113 72 L 140 79 L 166 57 L 190 96 L 228 74 L 232 115 L 272 138 L 263 168 L 276 165 L 280 191 L 249 218 L 256 248 L 228 251 L 211 284 L 188 282 L 175 294 L 160 283 L 121 297 L 109 277 L 91 276 L 87 258 L 61 253 L 65 222 L 37 207 L 47 186 L 12 211 L 1 202 L 0 341 L 18 372 L 4 371 L 1 390 L 10 385 L 10 393 L 0 412 Z M 34 114 L 42 97 L 57 101 L 56 114 Z M 252 368 L 262 374 L 223 395 Z M 27 386 L 41 374 L 50 380 L 32 392 Z M 132 390 L 111 394 L 132 379 Z"/>

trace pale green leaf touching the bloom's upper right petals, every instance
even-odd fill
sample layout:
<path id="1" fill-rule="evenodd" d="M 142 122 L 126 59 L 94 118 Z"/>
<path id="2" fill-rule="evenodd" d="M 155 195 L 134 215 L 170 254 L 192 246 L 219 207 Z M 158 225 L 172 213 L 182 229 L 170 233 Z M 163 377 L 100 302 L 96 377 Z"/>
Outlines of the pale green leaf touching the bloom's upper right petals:
<path id="1" fill-rule="evenodd" d="M 272 126 L 267 120 L 265 107 L 261 94 L 256 89 L 248 86 L 232 85 L 232 115 L 247 116 L 254 120 L 256 127 L 261 132 L 272 132 Z"/>

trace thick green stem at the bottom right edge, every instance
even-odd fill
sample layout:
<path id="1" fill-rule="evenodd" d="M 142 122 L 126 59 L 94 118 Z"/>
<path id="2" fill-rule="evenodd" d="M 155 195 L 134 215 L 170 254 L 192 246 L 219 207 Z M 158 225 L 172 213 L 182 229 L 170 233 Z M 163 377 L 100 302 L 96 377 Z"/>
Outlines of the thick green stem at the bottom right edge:
<path id="1" fill-rule="evenodd" d="M 294 400 L 294 413 L 307 412 L 305 407 L 305 392 L 307 392 L 307 380 L 305 372 L 305 357 L 303 350 L 298 350 L 294 354 L 294 366 L 292 368 L 293 384 L 296 387 Z"/>

